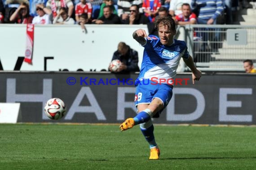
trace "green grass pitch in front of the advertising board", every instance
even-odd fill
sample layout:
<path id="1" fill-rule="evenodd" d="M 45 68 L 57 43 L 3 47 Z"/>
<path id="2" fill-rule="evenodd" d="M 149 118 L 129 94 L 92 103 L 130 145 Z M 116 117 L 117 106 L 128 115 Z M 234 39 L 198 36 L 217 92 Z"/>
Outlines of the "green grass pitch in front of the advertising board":
<path id="1" fill-rule="evenodd" d="M 256 127 L 155 125 L 148 160 L 139 126 L 0 124 L 1 170 L 255 170 Z"/>

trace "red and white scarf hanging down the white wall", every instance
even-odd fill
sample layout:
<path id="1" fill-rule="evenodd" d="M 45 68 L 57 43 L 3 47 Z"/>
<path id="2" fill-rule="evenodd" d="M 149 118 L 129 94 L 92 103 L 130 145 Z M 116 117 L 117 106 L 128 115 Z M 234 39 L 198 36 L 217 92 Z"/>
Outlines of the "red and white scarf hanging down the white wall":
<path id="1" fill-rule="evenodd" d="M 34 24 L 26 25 L 26 51 L 24 61 L 32 64 L 33 44 L 34 44 Z"/>

